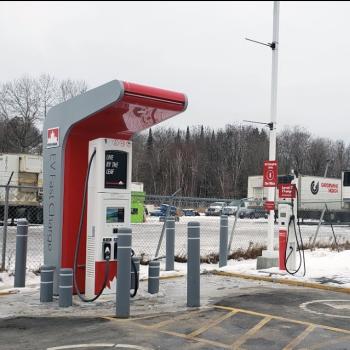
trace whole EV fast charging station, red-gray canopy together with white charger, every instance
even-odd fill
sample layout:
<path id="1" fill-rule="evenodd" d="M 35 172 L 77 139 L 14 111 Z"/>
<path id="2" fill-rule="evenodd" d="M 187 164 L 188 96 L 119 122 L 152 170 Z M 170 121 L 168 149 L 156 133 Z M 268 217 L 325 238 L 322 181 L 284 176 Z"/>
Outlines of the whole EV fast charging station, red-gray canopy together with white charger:
<path id="1" fill-rule="evenodd" d="M 44 122 L 44 264 L 74 268 L 75 292 L 115 289 L 117 236 L 130 227 L 134 133 L 187 107 L 184 94 L 114 80 L 53 107 Z"/>

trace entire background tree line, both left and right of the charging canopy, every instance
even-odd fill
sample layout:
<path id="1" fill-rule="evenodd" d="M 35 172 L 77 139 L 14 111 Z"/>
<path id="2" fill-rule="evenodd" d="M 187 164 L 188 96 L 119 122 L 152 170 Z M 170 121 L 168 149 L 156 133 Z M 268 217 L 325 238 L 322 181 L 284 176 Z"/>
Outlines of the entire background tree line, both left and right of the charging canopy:
<path id="1" fill-rule="evenodd" d="M 42 123 L 49 109 L 87 90 L 83 80 L 49 74 L 0 83 L 0 153 L 42 152 Z M 268 159 L 267 128 L 232 124 L 186 130 L 157 127 L 133 137 L 133 181 L 149 194 L 242 198 L 250 175 L 260 175 Z M 350 145 L 312 136 L 301 127 L 277 136 L 279 173 L 291 169 L 329 177 L 350 169 Z"/>

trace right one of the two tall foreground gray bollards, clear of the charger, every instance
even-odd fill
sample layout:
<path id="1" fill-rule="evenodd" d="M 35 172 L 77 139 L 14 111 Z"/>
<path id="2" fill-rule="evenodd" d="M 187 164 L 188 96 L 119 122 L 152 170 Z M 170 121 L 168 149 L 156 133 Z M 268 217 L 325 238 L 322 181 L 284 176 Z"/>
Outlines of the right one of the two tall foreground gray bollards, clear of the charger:
<path id="1" fill-rule="evenodd" d="M 187 306 L 200 306 L 200 224 L 191 221 L 187 225 Z"/>

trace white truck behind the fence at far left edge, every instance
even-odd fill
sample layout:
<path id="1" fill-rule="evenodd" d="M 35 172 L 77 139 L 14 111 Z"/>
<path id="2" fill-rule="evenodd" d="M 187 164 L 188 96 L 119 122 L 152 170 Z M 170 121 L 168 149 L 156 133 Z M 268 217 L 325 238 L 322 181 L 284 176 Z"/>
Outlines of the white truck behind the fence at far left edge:
<path id="1" fill-rule="evenodd" d="M 43 159 L 32 154 L 0 154 L 0 222 L 4 220 L 6 186 L 8 219 L 26 217 L 30 223 L 43 221 Z"/>

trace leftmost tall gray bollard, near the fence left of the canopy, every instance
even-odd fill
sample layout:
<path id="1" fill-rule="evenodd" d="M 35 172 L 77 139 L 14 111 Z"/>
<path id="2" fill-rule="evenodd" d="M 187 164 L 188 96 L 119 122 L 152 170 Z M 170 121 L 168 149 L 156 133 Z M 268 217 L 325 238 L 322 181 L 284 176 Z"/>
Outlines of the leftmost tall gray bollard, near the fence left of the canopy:
<path id="1" fill-rule="evenodd" d="M 16 233 L 15 287 L 25 287 L 26 285 L 27 241 L 28 221 L 19 219 Z"/>

